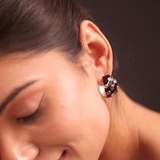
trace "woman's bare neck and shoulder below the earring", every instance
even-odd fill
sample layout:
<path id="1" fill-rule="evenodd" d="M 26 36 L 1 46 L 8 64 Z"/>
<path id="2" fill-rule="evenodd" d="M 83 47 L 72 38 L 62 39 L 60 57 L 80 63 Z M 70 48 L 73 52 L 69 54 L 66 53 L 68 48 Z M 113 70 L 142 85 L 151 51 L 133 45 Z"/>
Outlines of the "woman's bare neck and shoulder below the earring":
<path id="1" fill-rule="evenodd" d="M 111 116 L 110 131 L 99 160 L 150 160 L 149 157 L 153 154 L 150 145 L 156 143 L 149 142 L 149 138 L 153 140 L 151 136 L 155 132 L 148 132 L 147 129 L 149 125 L 153 129 L 153 120 L 160 121 L 159 114 L 132 101 L 122 90 L 113 98 L 107 99 L 107 106 Z M 152 122 L 149 117 L 152 117 Z M 148 146 L 144 145 L 146 141 Z M 151 159 L 154 159 L 153 156 Z"/>

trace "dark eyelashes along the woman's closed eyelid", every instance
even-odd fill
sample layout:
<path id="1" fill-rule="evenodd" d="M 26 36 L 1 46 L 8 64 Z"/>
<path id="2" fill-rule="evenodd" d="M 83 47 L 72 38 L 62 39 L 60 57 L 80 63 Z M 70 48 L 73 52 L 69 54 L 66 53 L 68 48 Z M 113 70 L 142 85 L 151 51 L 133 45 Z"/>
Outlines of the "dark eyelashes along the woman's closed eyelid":
<path id="1" fill-rule="evenodd" d="M 32 113 L 31 115 L 28 115 L 26 117 L 17 118 L 17 121 L 20 121 L 23 123 L 35 122 L 35 120 L 37 120 L 37 118 L 40 117 L 43 113 L 43 107 L 41 106 L 43 97 L 39 103 L 38 109 L 34 113 Z"/>

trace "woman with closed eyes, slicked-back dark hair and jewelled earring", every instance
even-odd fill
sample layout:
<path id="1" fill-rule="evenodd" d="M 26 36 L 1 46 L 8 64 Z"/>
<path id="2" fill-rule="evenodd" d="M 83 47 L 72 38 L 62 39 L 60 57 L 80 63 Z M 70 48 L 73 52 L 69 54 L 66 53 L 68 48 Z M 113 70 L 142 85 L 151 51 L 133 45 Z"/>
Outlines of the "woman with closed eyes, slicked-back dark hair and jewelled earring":
<path id="1" fill-rule="evenodd" d="M 113 96 L 112 49 L 76 0 L 0 0 L 0 22 L 0 160 L 160 159 L 159 114 Z"/>

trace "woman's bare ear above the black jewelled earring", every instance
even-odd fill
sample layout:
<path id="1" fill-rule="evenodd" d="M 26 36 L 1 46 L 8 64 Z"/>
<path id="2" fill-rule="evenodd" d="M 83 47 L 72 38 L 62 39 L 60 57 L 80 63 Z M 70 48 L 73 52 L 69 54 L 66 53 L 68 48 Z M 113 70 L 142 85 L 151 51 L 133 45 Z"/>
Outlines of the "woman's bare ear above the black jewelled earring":
<path id="1" fill-rule="evenodd" d="M 111 46 L 98 27 L 88 20 L 81 22 L 79 34 L 83 50 L 93 64 L 98 83 L 101 83 L 104 75 L 112 74 Z"/>

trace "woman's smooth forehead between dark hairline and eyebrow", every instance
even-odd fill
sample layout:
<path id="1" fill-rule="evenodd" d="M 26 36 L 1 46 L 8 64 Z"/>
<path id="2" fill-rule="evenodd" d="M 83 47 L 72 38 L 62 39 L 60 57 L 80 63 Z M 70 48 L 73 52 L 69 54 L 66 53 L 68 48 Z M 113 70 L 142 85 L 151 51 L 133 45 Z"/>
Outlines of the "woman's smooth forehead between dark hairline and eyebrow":
<path id="1" fill-rule="evenodd" d="M 60 54 L 47 53 L 29 58 L 4 57 L 0 60 L 0 101 L 13 88 L 27 81 L 52 78 L 56 83 L 73 74 L 71 72 L 73 67 Z"/>

